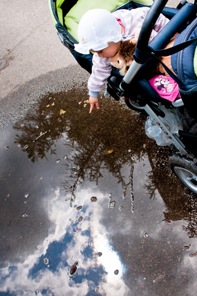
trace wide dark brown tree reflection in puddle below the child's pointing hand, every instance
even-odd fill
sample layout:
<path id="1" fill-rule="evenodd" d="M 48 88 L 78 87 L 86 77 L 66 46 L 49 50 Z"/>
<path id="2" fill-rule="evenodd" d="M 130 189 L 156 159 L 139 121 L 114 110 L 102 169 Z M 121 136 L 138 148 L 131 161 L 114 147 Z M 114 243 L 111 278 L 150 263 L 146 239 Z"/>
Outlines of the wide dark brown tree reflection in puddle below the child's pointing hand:
<path id="1" fill-rule="evenodd" d="M 89 114 L 89 105 L 84 108 L 87 99 L 83 90 L 49 95 L 22 123 L 14 126 L 22 131 L 21 135 L 16 135 L 16 142 L 21 147 L 29 145 L 24 151 L 33 162 L 38 158 L 47 158 L 47 153 L 56 153 L 56 141 L 67 131 L 69 141 L 65 140 L 65 145 L 72 150 L 70 162 L 81 167 L 73 175 L 70 163 L 66 164 L 64 188 L 73 197 L 77 185 L 84 180 L 98 182 L 104 168 L 125 186 L 121 168 L 127 162 L 132 164 L 133 154 L 135 161 L 141 159 L 143 145 L 147 141 L 144 120 L 137 113 L 128 110 L 125 105 L 121 108 L 114 100 L 100 98 L 100 110 Z M 60 110 L 66 111 L 65 114 L 61 115 Z M 43 134 L 40 135 L 40 132 Z"/>

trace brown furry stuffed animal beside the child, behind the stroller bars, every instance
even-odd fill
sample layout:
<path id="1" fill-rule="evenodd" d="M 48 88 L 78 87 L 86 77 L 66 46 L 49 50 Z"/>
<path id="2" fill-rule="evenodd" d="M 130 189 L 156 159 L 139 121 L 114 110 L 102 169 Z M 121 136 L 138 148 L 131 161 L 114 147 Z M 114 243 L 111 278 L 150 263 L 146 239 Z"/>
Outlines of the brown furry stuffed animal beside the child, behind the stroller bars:
<path id="1" fill-rule="evenodd" d="M 176 38 L 173 37 L 169 41 L 165 49 L 172 47 L 175 39 Z M 109 58 L 109 62 L 111 63 L 111 65 L 117 68 L 122 76 L 125 76 L 125 74 L 129 70 L 129 67 L 131 66 L 134 60 L 133 54 L 135 52 L 136 44 L 137 44 L 136 37 L 133 37 L 131 40 L 126 40 L 122 42 L 120 45 L 119 51 L 113 57 Z M 172 66 L 171 66 L 171 56 L 160 57 L 160 60 L 173 72 Z M 164 67 L 162 66 L 162 64 L 159 63 L 159 61 L 157 62 L 156 60 L 149 67 L 148 72 L 149 72 L 149 74 L 147 75 L 148 79 L 151 79 L 152 77 L 158 74 L 168 75 Z"/>

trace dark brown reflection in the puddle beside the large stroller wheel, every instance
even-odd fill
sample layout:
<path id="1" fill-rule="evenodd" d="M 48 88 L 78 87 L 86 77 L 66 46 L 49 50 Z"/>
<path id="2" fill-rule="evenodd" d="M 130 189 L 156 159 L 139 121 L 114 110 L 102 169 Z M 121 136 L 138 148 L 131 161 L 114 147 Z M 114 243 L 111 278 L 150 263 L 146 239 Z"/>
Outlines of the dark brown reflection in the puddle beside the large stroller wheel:
<path id="1" fill-rule="evenodd" d="M 173 146 L 148 149 L 152 175 L 149 176 L 147 188 L 150 198 L 157 189 L 164 200 L 166 211 L 164 221 L 183 220 L 182 229 L 190 237 L 197 237 L 197 196 L 190 192 L 168 167 L 168 156 L 175 150 Z M 166 157 L 164 157 L 164 155 Z"/>

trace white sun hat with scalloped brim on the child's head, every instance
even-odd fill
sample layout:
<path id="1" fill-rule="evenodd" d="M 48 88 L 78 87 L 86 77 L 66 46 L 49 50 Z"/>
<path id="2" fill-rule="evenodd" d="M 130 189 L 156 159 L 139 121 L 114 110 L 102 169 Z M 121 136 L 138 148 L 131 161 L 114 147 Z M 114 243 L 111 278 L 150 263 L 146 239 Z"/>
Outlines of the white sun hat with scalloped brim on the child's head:
<path id="1" fill-rule="evenodd" d="M 99 51 L 109 42 L 117 43 L 122 39 L 121 26 L 115 16 L 106 9 L 88 10 L 81 18 L 77 30 L 78 44 L 74 44 L 77 52 L 89 54 L 90 49 Z"/>

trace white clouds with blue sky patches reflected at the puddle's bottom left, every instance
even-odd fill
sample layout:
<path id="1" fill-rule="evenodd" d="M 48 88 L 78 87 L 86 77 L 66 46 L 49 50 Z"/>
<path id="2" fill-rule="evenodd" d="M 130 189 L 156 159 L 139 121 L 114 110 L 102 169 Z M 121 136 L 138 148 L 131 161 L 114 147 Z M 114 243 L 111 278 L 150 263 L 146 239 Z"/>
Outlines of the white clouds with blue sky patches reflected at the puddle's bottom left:
<path id="1" fill-rule="evenodd" d="M 98 282 L 93 282 L 94 279 L 94 281 L 100 281 L 99 293 L 101 295 L 118 296 L 120 293 L 121 296 L 127 295 L 129 288 L 124 284 L 122 278 L 125 266 L 123 266 L 118 253 L 112 251 L 112 246 L 109 243 L 111 233 L 107 233 L 102 224 L 102 203 L 104 199 L 106 200 L 106 196 L 95 188 L 94 195 L 99 196 L 99 198 L 96 203 L 91 203 L 92 192 L 92 189 L 87 189 L 76 194 L 75 204 L 83 205 L 82 211 L 71 208 L 69 202 L 65 201 L 65 196 L 61 196 L 59 189 L 50 193 L 50 195 L 47 194 L 43 203 L 51 222 L 48 237 L 42 245 L 37 247 L 33 255 L 25 259 L 24 263 L 17 263 L 12 271 L 9 266 L 1 270 L 0 291 L 6 292 L 9 287 L 10 293 L 18 296 L 21 295 L 22 290 L 32 295 L 34 289 L 39 291 L 46 289 L 47 295 L 53 293 L 54 296 L 60 296 L 65 295 L 66 292 L 68 296 L 85 296 L 90 289 L 92 291 L 98 285 Z M 81 223 L 76 222 L 79 216 L 83 216 Z M 76 225 L 79 229 L 75 236 L 71 236 Z M 71 237 L 71 242 L 65 245 L 61 254 L 49 254 L 51 243 L 57 241 L 61 244 L 65 239 L 66 232 Z M 88 248 L 90 250 L 86 251 Z M 101 257 L 98 257 L 98 252 L 102 252 Z M 38 267 L 40 266 L 40 256 L 51 256 L 51 260 L 49 257 L 49 265 L 58 258 L 61 260 L 56 269 L 53 270 L 52 266 L 48 267 L 44 264 L 44 261 L 43 265 Z M 70 277 L 70 267 L 76 261 L 79 261 L 77 274 L 75 277 Z M 35 274 L 30 276 L 30 270 L 38 263 L 39 265 L 35 267 Z M 119 270 L 118 275 L 114 274 L 116 269 Z M 97 274 L 97 270 L 99 274 Z M 100 280 L 102 270 L 103 280 Z M 84 272 L 85 275 L 83 275 Z M 92 277 L 90 272 L 95 272 L 95 275 Z"/>

